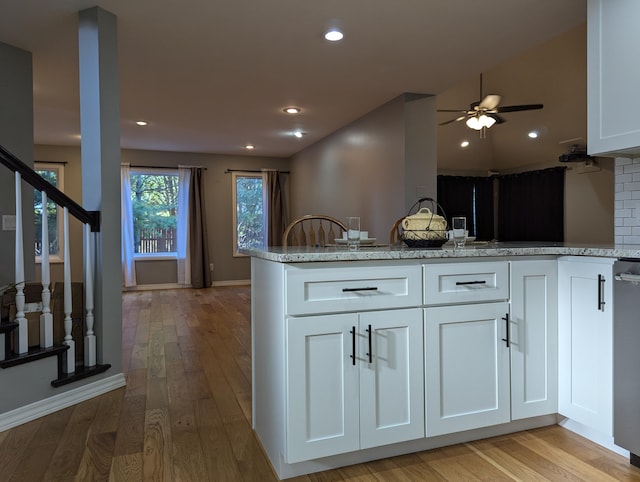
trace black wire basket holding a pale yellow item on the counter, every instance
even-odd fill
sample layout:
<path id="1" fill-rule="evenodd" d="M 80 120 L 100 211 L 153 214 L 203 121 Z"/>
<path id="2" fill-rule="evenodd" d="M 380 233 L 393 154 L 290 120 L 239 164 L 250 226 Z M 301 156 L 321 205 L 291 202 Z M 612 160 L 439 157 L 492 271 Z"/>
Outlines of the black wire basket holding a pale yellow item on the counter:
<path id="1" fill-rule="evenodd" d="M 422 203 L 425 201 L 431 202 L 433 211 L 422 207 Z M 416 208 L 417 211 L 411 214 Z M 439 248 L 446 243 L 446 215 L 438 215 L 437 210 L 444 214 L 442 206 L 432 198 L 419 199 L 409 209 L 407 217 L 400 223 L 402 230 L 400 239 L 410 248 Z"/>

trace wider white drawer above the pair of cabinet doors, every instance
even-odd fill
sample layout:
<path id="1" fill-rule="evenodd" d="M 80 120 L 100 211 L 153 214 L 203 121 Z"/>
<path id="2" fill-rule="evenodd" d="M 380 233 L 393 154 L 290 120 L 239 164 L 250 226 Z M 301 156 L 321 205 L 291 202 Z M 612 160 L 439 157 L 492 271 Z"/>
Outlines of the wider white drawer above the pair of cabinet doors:
<path id="1" fill-rule="evenodd" d="M 289 315 L 381 310 L 422 304 L 420 265 L 288 266 Z"/>

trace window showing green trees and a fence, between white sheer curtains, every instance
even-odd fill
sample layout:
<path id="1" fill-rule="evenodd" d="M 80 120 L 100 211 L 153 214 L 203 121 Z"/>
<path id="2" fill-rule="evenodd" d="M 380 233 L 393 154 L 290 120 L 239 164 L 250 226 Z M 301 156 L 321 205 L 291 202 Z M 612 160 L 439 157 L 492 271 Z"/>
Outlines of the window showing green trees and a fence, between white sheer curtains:
<path id="1" fill-rule="evenodd" d="M 134 253 L 176 254 L 178 171 L 131 169 Z"/>

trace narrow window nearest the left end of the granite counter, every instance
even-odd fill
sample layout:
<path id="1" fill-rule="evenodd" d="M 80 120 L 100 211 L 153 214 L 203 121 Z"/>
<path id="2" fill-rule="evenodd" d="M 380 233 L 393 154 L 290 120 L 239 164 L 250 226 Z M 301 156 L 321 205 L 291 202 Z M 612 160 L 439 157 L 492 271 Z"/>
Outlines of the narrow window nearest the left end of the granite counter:
<path id="1" fill-rule="evenodd" d="M 264 246 L 262 175 L 233 173 L 233 255 L 241 248 Z"/>

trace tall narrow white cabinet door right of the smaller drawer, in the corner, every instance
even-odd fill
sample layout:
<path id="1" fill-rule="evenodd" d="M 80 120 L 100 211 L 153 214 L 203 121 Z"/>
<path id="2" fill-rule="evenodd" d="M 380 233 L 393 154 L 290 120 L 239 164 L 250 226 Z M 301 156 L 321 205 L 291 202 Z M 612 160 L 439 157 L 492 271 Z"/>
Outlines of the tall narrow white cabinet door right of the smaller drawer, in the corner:
<path id="1" fill-rule="evenodd" d="M 555 260 L 511 262 L 511 419 L 558 411 Z"/>

